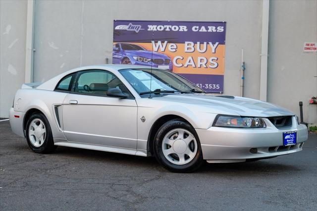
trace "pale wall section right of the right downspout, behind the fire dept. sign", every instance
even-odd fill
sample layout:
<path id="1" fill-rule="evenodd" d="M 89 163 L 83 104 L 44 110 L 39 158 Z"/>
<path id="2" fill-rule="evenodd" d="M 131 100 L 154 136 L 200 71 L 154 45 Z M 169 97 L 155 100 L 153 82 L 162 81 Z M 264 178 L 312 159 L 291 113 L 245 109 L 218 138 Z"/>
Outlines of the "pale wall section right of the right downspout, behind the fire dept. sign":
<path id="1" fill-rule="evenodd" d="M 304 53 L 305 42 L 317 42 L 317 1 L 272 0 L 268 36 L 267 101 L 299 115 L 303 102 L 304 121 L 317 124 L 317 53 Z"/>

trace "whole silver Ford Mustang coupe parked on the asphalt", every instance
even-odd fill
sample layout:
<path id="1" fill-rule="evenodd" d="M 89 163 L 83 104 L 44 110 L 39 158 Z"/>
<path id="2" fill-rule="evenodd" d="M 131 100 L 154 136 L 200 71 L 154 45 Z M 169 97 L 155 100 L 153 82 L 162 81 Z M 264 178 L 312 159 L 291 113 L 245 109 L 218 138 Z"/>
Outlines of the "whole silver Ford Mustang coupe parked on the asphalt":
<path id="1" fill-rule="evenodd" d="M 155 156 L 173 172 L 207 162 L 243 162 L 302 150 L 307 127 L 291 111 L 212 95 L 167 70 L 95 65 L 43 84 L 23 84 L 12 131 L 35 153 L 57 146 Z"/>

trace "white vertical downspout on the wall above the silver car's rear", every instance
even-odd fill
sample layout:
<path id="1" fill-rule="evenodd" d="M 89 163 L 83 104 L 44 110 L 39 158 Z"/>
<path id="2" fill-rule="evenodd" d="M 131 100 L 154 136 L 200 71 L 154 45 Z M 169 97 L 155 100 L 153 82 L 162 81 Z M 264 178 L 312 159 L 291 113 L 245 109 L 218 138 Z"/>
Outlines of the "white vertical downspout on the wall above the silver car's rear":
<path id="1" fill-rule="evenodd" d="M 26 18 L 26 48 L 25 48 L 25 83 L 33 82 L 33 56 L 34 56 L 34 16 L 35 0 L 27 2 Z"/>

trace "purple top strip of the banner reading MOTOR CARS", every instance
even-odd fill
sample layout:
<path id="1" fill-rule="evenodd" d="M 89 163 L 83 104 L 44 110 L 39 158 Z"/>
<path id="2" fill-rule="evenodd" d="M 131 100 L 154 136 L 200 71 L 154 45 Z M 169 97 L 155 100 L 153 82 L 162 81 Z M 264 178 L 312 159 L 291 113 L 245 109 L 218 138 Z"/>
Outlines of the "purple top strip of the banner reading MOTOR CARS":
<path id="1" fill-rule="evenodd" d="M 186 41 L 225 44 L 226 22 L 126 21 L 113 22 L 113 42 Z M 212 38 L 212 39 L 211 39 Z"/>

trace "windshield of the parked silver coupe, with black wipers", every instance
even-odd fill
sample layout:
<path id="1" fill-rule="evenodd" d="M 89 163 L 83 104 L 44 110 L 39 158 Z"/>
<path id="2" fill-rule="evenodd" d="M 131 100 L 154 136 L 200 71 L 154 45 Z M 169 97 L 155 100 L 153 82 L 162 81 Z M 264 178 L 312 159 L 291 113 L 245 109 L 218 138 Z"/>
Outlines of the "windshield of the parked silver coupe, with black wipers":
<path id="1" fill-rule="evenodd" d="M 204 92 L 183 77 L 166 70 L 137 68 L 119 70 L 141 97 L 166 94 Z M 152 77 L 151 77 L 152 76 Z"/>

